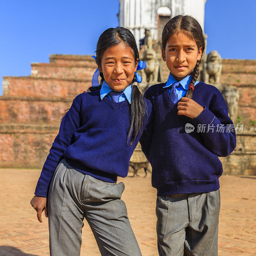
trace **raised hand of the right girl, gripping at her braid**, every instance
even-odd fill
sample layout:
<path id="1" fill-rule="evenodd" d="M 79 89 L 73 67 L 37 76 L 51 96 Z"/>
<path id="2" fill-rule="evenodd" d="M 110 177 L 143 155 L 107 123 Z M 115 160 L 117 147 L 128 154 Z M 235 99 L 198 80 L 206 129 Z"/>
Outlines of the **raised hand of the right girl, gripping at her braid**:
<path id="1" fill-rule="evenodd" d="M 195 100 L 188 99 L 187 97 L 182 97 L 180 99 L 177 109 L 178 115 L 184 115 L 190 118 L 195 118 L 204 110 L 204 108 L 196 103 Z"/>

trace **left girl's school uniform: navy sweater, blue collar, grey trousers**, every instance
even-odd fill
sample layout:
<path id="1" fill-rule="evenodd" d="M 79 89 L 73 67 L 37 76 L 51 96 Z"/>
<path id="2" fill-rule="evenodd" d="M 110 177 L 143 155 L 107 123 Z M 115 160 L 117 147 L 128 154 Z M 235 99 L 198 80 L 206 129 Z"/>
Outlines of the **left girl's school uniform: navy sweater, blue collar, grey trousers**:
<path id="1" fill-rule="evenodd" d="M 127 176 L 140 137 L 127 142 L 132 87 L 122 98 L 114 93 L 116 102 L 109 88 L 105 82 L 76 96 L 37 182 L 35 194 L 48 196 L 51 255 L 80 255 L 84 218 L 101 255 L 141 255 L 121 200 L 124 183 L 116 184 Z"/>

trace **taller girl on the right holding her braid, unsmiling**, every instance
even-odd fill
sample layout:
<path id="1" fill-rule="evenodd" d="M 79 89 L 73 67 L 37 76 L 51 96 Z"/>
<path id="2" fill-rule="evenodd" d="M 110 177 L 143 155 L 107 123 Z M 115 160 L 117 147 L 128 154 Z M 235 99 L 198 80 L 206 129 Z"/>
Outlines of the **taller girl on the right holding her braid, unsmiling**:
<path id="1" fill-rule="evenodd" d="M 204 35 L 191 16 L 169 20 L 162 34 L 167 82 L 145 92 L 154 124 L 140 144 L 157 189 L 161 256 L 217 256 L 222 164 L 236 147 L 234 124 L 220 91 L 197 81 Z"/>

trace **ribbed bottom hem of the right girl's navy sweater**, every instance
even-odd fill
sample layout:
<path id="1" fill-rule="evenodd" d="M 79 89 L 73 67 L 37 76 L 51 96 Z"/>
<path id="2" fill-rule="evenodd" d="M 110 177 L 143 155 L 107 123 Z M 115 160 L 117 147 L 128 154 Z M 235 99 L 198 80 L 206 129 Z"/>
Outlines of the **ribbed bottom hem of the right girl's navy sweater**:
<path id="1" fill-rule="evenodd" d="M 216 191 L 220 188 L 220 182 L 216 177 L 213 180 L 171 181 L 152 186 L 157 189 L 157 196 L 166 196 L 173 194 L 204 193 Z"/>

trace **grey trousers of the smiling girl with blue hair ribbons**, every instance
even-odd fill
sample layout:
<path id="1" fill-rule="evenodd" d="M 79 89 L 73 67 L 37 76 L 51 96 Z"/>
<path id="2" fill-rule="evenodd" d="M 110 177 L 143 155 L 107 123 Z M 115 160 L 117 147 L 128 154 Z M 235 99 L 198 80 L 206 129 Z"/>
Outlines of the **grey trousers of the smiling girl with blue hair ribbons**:
<path id="1" fill-rule="evenodd" d="M 124 183 L 110 183 L 76 171 L 62 159 L 49 187 L 51 256 L 78 256 L 84 218 L 101 255 L 141 256 L 121 195 Z"/>

